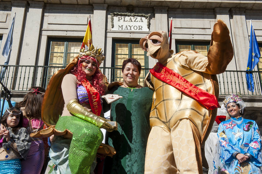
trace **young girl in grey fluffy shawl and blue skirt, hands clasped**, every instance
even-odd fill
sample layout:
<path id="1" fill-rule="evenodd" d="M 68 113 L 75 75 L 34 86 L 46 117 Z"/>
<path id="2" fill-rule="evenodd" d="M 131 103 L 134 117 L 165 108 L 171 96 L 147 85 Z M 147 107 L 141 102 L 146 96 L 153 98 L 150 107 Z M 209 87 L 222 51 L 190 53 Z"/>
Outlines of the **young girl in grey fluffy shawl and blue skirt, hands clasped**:
<path id="1" fill-rule="evenodd" d="M 29 133 L 23 128 L 23 114 L 17 108 L 3 114 L 0 131 L 0 173 L 20 174 L 20 159 L 26 159 L 31 145 Z"/>

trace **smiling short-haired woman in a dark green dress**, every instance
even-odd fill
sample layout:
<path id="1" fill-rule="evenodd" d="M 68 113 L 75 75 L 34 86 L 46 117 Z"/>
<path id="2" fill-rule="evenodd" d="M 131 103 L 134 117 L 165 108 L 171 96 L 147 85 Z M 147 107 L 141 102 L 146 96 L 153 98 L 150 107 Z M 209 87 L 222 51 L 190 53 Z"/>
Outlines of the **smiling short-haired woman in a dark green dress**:
<path id="1" fill-rule="evenodd" d="M 118 123 L 118 131 L 108 133 L 108 143 L 116 149 L 116 155 L 105 159 L 104 174 L 144 174 L 153 91 L 138 84 L 140 72 L 141 64 L 137 60 L 124 60 L 124 82 L 109 85 L 108 94 L 123 98 L 111 105 L 111 121 Z M 110 106 L 105 108 L 109 109 Z"/>

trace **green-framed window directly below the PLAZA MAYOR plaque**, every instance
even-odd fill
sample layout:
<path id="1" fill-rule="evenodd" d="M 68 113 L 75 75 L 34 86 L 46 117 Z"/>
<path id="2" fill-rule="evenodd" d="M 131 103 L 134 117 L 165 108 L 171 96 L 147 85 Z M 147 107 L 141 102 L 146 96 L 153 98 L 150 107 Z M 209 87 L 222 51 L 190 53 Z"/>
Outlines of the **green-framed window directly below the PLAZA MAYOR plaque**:
<path id="1" fill-rule="evenodd" d="M 124 42 L 121 40 L 113 40 L 112 48 L 112 67 L 122 68 L 122 63 L 128 58 L 134 58 L 141 64 L 141 68 L 148 68 L 148 56 L 146 51 L 143 51 L 139 45 L 139 41 Z M 138 79 L 138 84 L 143 86 L 143 79 L 145 78 L 148 70 L 142 70 Z M 121 69 L 115 69 L 114 81 L 123 81 Z"/>

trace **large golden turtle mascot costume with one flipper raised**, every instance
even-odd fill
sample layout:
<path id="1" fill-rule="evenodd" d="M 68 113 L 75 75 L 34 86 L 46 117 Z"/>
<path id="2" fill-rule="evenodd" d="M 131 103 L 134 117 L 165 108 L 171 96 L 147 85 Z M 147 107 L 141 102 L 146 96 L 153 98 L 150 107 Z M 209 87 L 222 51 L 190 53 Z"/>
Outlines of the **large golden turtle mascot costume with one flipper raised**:
<path id="1" fill-rule="evenodd" d="M 202 173 L 201 145 L 219 107 L 216 74 L 233 58 L 229 30 L 218 19 L 207 57 L 192 50 L 173 55 L 164 31 L 141 38 L 140 46 L 158 60 L 144 82 L 154 90 L 145 174 Z"/>

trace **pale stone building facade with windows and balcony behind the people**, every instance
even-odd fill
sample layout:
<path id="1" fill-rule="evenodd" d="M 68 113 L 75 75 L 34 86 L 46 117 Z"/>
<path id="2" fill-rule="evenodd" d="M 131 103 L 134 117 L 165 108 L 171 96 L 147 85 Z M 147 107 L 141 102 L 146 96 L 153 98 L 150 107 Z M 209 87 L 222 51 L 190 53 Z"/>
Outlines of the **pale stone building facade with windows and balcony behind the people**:
<path id="1" fill-rule="evenodd" d="M 121 80 L 117 68 L 123 59 L 134 57 L 143 68 L 154 66 L 156 60 L 141 51 L 139 40 L 152 31 L 169 33 L 171 18 L 172 49 L 175 52 L 195 49 L 203 54 L 209 48 L 215 21 L 222 19 L 229 28 L 234 57 L 227 72 L 218 76 L 219 103 L 222 104 L 226 94 L 240 92 L 247 101 L 247 115 L 262 125 L 261 73 L 256 72 L 256 91 L 251 93 L 246 89 L 244 72 L 250 19 L 262 47 L 261 9 L 262 1 L 244 0 L 1 0 L 0 52 L 15 14 L 9 65 L 20 66 L 10 67 L 5 84 L 12 90 L 15 101 L 20 101 L 31 85 L 46 87 L 48 78 L 59 68 L 43 66 L 65 66 L 77 55 L 89 16 L 93 45 L 102 48 L 106 55 L 101 67 L 109 67 L 103 69 L 109 81 Z M 3 64 L 5 58 L 0 57 Z M 262 71 L 260 61 L 255 71 Z M 30 66 L 30 70 L 26 69 Z M 141 75 L 141 83 L 146 72 Z M 11 78 L 11 74 L 17 78 Z"/>

